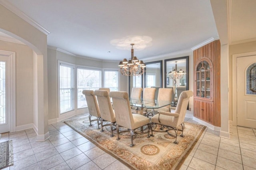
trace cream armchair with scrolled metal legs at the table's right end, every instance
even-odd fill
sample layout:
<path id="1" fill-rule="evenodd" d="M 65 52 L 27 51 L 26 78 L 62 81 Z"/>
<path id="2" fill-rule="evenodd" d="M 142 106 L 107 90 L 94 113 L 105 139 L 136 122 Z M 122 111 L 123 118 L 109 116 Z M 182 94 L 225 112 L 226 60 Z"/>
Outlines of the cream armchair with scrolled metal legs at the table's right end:
<path id="1" fill-rule="evenodd" d="M 180 99 L 178 100 L 177 107 L 174 111 L 174 113 L 166 112 L 166 111 L 158 111 L 157 115 L 154 115 L 151 118 L 151 123 L 156 123 L 159 125 L 163 125 L 166 127 L 170 127 L 167 130 L 167 133 L 172 136 L 172 134 L 169 133 L 169 130 L 174 130 L 176 134 L 176 139 L 174 141 L 175 144 L 178 144 L 177 142 L 177 136 L 178 136 L 178 126 L 182 126 L 182 134 L 180 135 L 181 137 L 184 137 L 183 135 L 183 129 L 184 129 L 184 118 L 186 115 L 186 110 L 188 107 L 188 101 L 189 98 L 193 96 L 193 92 L 188 90 L 188 91 L 183 91 L 180 94 Z"/>

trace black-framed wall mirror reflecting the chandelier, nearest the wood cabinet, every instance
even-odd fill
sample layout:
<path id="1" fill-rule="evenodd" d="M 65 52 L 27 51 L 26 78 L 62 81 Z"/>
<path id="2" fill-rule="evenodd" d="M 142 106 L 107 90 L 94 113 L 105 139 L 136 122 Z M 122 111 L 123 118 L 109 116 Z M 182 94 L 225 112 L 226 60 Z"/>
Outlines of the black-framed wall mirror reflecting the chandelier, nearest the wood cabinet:
<path id="1" fill-rule="evenodd" d="M 182 91 L 188 90 L 188 56 L 164 60 L 164 87 L 173 88 L 173 105 Z"/>

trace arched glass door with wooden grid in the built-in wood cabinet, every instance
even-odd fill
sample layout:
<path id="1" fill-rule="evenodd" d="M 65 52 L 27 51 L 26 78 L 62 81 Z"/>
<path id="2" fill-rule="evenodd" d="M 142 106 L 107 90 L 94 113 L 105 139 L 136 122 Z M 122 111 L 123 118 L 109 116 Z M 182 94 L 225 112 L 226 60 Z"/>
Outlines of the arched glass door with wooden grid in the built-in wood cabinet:
<path id="1" fill-rule="evenodd" d="M 210 65 L 201 61 L 196 67 L 196 96 L 210 99 Z"/>

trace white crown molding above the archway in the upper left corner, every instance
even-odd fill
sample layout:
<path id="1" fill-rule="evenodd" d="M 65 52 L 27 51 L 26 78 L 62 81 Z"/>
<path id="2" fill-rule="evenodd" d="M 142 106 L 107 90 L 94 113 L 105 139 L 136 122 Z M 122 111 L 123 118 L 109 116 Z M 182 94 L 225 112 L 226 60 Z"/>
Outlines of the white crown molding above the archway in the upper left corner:
<path id="1" fill-rule="evenodd" d="M 12 5 L 10 2 L 6 1 L 6 0 L 0 0 L 0 4 L 2 4 L 5 8 L 7 8 L 8 10 L 10 10 L 11 12 L 13 12 L 14 14 L 16 14 L 17 16 L 19 16 L 20 18 L 22 18 L 23 20 L 25 20 L 26 22 L 28 22 L 29 24 L 31 24 L 32 26 L 34 26 L 35 28 L 37 28 L 38 30 L 40 30 L 41 32 L 43 32 L 44 34 L 46 34 L 46 36 L 48 36 L 50 34 L 50 32 L 48 30 L 46 30 L 44 27 L 42 27 L 40 24 L 38 24 L 37 22 L 35 22 L 34 20 L 32 20 L 29 16 L 27 16 L 26 14 L 24 14 L 21 10 L 19 10 L 18 8 L 16 8 L 14 5 Z"/>

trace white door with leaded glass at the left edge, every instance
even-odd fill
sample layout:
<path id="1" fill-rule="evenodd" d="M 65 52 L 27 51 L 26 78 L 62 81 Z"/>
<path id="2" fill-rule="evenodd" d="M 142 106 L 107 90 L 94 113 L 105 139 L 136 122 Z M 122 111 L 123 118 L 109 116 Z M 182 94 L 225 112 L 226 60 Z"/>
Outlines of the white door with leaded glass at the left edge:
<path id="1" fill-rule="evenodd" d="M 10 111 L 7 106 L 9 100 L 7 68 L 9 67 L 8 56 L 0 55 L 0 134 L 10 132 Z"/>

